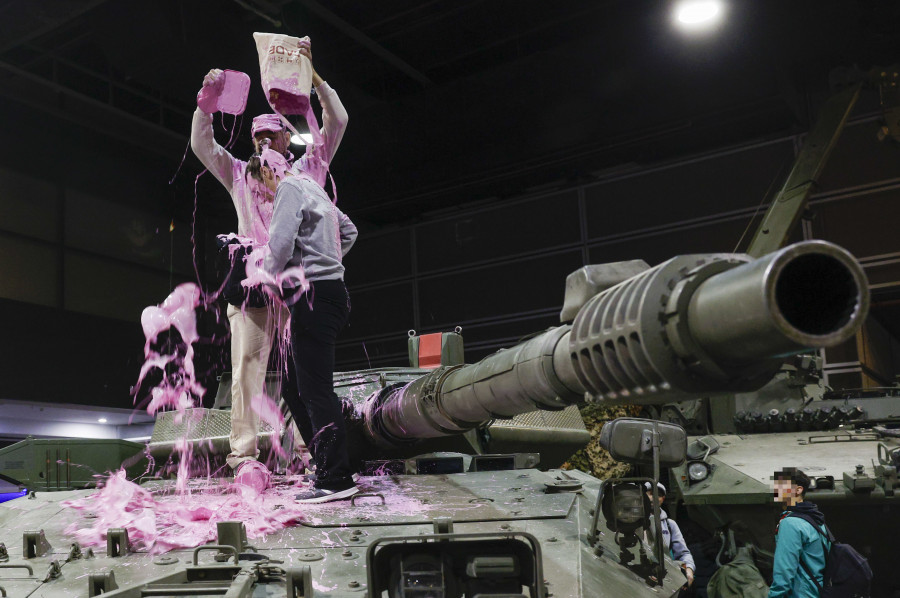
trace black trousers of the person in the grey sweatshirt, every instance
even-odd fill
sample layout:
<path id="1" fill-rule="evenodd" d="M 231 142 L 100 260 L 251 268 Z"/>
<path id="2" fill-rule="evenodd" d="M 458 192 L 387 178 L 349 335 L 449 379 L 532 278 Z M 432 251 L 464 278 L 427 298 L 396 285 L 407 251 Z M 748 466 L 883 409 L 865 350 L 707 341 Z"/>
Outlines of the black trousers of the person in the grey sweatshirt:
<path id="1" fill-rule="evenodd" d="M 350 296 L 342 280 L 317 280 L 311 287 L 291 306 L 291 353 L 299 396 L 292 392 L 283 396 L 315 460 L 316 488 L 345 490 L 354 483 L 347 428 L 334 392 L 334 343 L 350 317 Z"/>

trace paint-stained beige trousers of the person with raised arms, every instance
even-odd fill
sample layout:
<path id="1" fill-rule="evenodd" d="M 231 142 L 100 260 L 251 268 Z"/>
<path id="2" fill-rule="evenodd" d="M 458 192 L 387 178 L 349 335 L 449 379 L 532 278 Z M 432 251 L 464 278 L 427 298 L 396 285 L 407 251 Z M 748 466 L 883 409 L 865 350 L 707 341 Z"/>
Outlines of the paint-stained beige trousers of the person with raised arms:
<path id="1" fill-rule="evenodd" d="M 243 311 L 228 306 L 231 327 L 231 452 L 228 465 L 232 469 L 249 459 L 259 457 L 256 435 L 259 416 L 250 404 L 254 396 L 265 391 L 266 367 L 277 320 L 267 307 L 247 307 Z"/>

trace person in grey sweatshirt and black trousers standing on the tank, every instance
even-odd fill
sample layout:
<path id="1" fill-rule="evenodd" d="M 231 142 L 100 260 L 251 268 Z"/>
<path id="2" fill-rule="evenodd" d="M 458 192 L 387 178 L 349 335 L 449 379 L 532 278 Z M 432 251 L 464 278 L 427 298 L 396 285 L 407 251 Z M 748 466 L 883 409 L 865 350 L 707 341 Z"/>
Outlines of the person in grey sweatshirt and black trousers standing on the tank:
<path id="1" fill-rule="evenodd" d="M 350 498 L 357 488 L 333 376 L 335 339 L 350 316 L 342 261 L 356 241 L 357 230 L 316 178 L 303 170 L 291 171 L 280 153 L 263 150 L 250 161 L 249 171 L 275 193 L 263 268 L 276 281 L 282 277 L 277 290 L 291 310 L 299 408 L 305 408 L 312 427 L 308 444 L 316 462 L 316 480 L 295 500 L 321 503 Z M 302 279 L 287 276 L 297 271 L 302 271 Z"/>

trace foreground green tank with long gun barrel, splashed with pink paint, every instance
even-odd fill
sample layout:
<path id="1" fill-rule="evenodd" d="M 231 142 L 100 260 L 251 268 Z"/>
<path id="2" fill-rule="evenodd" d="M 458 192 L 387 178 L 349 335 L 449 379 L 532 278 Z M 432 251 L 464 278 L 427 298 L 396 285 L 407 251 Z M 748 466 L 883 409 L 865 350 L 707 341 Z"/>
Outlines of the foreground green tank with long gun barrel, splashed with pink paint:
<path id="1" fill-rule="evenodd" d="M 808 313 L 804 298 L 826 292 L 821 309 Z M 859 264 L 826 242 L 760 259 L 703 254 L 653 268 L 588 266 L 567 280 L 562 325 L 515 347 L 471 365 L 337 374 L 336 391 L 359 431 L 358 454 L 377 465 L 363 472 L 362 492 L 349 502 L 304 505 L 289 517 L 294 525 L 250 533 L 252 546 L 241 521 L 193 510 L 179 529 L 205 517 L 204 525 L 216 523 L 212 543 L 165 551 L 135 542 L 145 530 L 133 520 L 154 516 L 144 512 L 152 511 L 147 504 L 172 496 L 171 480 L 138 480 L 148 502 L 119 519 L 73 506 L 91 490 L 39 489 L 0 504 L 0 594 L 674 596 L 684 583 L 680 569 L 642 534 L 651 509 L 638 484 L 656 474 L 611 486 L 554 469 L 552 450 L 543 463 L 537 454 L 552 447 L 552 435 L 529 443 L 527 430 L 502 432 L 498 424 L 586 400 L 654 404 L 748 392 L 770 380 L 786 355 L 852 336 L 867 307 Z M 215 411 L 200 418 L 210 436 L 197 446 L 210 452 Z M 160 417 L 157 427 L 166 421 Z M 167 425 L 165 434 L 154 432 L 151 453 L 169 446 L 174 420 Z M 654 455 L 667 455 L 655 457 L 657 470 L 680 463 L 684 432 L 647 426 L 630 425 L 616 454 L 627 459 L 630 450 L 634 462 L 646 463 L 652 445 Z M 278 435 L 269 432 L 270 444 Z M 461 443 L 467 450 L 456 452 Z M 496 453 L 519 445 L 529 450 Z M 121 478 L 108 487 L 114 479 Z M 204 483 L 223 487 L 208 479 L 191 489 Z M 294 483 L 283 476 L 253 500 L 273 513 L 296 510 Z M 109 525 L 104 544 L 73 543 L 73 534 L 98 521 Z"/>

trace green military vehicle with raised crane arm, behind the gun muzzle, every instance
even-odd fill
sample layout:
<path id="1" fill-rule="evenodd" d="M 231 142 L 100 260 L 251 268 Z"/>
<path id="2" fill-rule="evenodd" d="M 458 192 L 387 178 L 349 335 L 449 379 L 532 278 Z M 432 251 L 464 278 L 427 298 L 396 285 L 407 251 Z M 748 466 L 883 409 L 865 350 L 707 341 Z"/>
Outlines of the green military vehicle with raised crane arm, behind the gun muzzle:
<path id="1" fill-rule="evenodd" d="M 810 194 L 863 91 L 879 92 L 886 119 L 877 138 L 900 135 L 900 121 L 888 116 L 900 110 L 898 65 L 836 75 L 847 85 L 822 106 L 755 231 L 750 255 L 775 251 L 807 212 Z M 809 317 L 815 317 L 819 298 L 807 301 Z M 817 352 L 799 354 L 784 360 L 758 390 L 646 408 L 645 416 L 678 423 L 690 434 L 686 463 L 671 471 L 668 500 L 679 523 L 689 529 L 690 522 L 697 524 L 692 552 L 706 561 L 706 571 L 695 585 L 702 587 L 705 577 L 742 546 L 752 548 L 764 574 L 771 570 L 781 513 L 773 504 L 771 478 L 784 467 L 798 467 L 814 479 L 809 499 L 825 513 L 836 537 L 869 559 L 873 596 L 900 596 L 897 550 L 889 540 L 900 534 L 900 390 L 832 390 L 823 384 L 822 362 Z"/>

